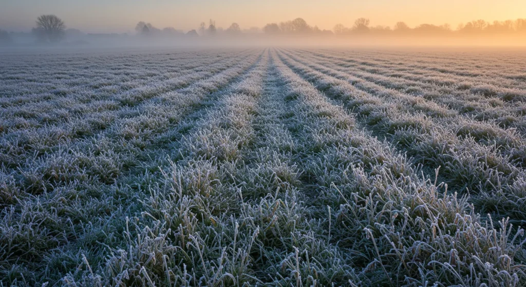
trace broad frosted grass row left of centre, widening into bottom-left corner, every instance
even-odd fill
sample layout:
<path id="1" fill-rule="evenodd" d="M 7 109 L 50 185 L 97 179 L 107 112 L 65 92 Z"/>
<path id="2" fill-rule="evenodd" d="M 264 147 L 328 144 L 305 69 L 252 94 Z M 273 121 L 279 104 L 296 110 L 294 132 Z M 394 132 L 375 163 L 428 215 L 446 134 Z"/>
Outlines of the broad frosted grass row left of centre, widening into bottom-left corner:
<path id="1" fill-rule="evenodd" d="M 2 282 L 56 282 L 79 265 L 104 262 L 110 246 L 122 246 L 124 219 L 140 212 L 137 200 L 162 181 L 159 168 L 177 156 L 170 146 L 183 136 L 187 118 L 235 83 L 258 53 L 230 59 L 187 88 L 152 94 L 92 135 L 43 142 L 48 150 L 42 153 L 4 135 L 27 156 L 2 168 Z"/>

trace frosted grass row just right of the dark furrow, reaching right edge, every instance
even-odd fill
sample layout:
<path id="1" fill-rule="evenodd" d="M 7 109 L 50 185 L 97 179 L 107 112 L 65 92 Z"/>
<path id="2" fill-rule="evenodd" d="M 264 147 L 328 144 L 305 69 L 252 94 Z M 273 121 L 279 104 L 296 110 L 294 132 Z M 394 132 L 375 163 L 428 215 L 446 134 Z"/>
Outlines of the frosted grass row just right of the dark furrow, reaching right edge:
<path id="1" fill-rule="evenodd" d="M 368 129 L 407 151 L 430 175 L 441 167 L 440 179 L 453 191 L 471 192 L 470 199 L 477 202 L 478 211 L 498 212 L 522 224 L 526 213 L 522 208 L 525 177 L 520 137 L 458 117 L 434 120 L 434 107 L 421 100 L 365 93 L 348 81 L 301 63 L 286 63 L 323 93 L 356 112 Z M 421 113 L 422 107 L 427 109 L 426 114 Z M 511 138 L 517 141 L 511 143 Z"/>

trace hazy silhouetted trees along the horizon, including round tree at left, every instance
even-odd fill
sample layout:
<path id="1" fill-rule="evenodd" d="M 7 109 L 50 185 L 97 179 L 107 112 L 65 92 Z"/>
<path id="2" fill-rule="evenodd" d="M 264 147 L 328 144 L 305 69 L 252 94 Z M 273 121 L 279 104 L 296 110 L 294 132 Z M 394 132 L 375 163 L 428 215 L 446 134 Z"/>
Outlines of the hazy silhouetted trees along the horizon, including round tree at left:
<path id="1" fill-rule="evenodd" d="M 36 26 L 32 29 L 32 34 L 39 43 L 58 43 L 65 36 L 66 25 L 62 19 L 56 15 L 42 15 L 36 19 Z M 77 33 L 79 32 L 76 29 Z M 156 28 L 150 23 L 139 22 L 135 26 L 137 36 L 191 36 L 191 37 L 211 37 L 216 35 L 222 36 L 239 36 L 241 34 L 258 34 L 272 36 L 291 36 L 291 35 L 413 35 L 413 36 L 451 36 L 451 35 L 512 35 L 526 34 L 526 19 L 505 20 L 487 22 L 485 20 L 473 20 L 466 24 L 460 24 L 453 29 L 449 24 L 433 25 L 421 24 L 416 27 L 410 27 L 404 22 L 398 22 L 393 27 L 390 26 L 371 26 L 368 18 L 358 18 L 354 25 L 346 27 L 342 24 L 336 24 L 332 30 L 320 29 L 316 25 L 309 25 L 305 19 L 296 18 L 280 23 L 268 23 L 264 27 L 250 27 L 241 29 L 237 23 L 232 23 L 228 28 L 223 29 L 216 26 L 212 19 L 208 24 L 201 22 L 197 29 L 183 32 L 173 27 Z M 0 44 L 11 44 L 13 39 L 11 35 L 0 29 Z"/>

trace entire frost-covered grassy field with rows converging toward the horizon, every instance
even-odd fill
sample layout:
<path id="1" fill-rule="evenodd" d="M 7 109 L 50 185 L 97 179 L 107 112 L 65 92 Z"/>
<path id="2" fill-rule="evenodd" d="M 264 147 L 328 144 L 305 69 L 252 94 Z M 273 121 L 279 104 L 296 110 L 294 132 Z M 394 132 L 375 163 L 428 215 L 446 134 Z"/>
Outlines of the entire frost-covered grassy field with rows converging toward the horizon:
<path id="1" fill-rule="evenodd" d="M 526 54 L 0 55 L 0 286 L 526 286 Z"/>

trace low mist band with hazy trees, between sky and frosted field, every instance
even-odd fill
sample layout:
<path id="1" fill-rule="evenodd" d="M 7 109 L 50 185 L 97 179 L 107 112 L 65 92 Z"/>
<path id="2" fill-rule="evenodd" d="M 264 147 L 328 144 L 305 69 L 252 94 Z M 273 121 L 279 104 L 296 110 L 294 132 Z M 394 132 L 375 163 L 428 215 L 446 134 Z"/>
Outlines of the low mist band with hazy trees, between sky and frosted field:
<path id="1" fill-rule="evenodd" d="M 320 29 L 303 18 L 295 18 L 263 27 L 241 27 L 231 23 L 227 28 L 210 19 L 196 29 L 158 28 L 143 21 L 127 33 L 85 33 L 67 28 L 62 18 L 49 14 L 37 17 L 31 33 L 8 33 L 0 29 L 0 47 L 153 47 L 153 46 L 524 46 L 526 18 L 486 22 L 473 20 L 452 28 L 450 24 L 405 22 L 394 26 L 373 26 L 369 18 L 358 18 L 346 27 L 336 24 Z M 0 26 L 1 28 L 1 26 Z"/>

